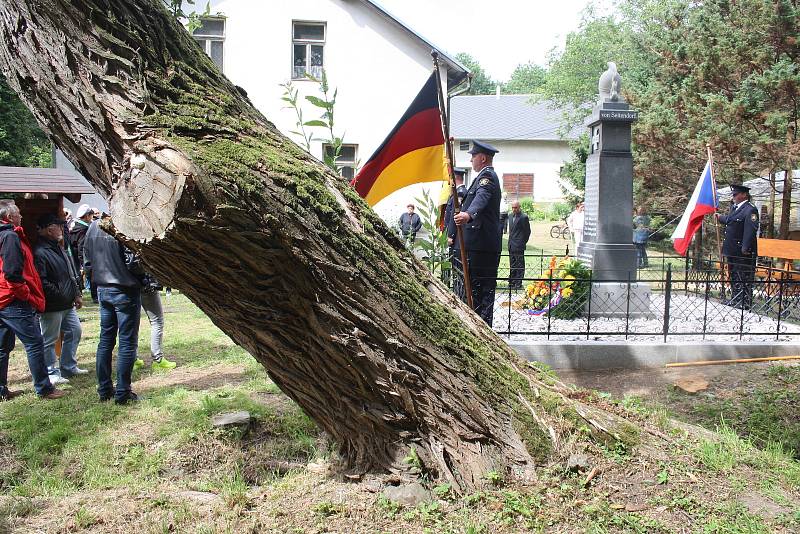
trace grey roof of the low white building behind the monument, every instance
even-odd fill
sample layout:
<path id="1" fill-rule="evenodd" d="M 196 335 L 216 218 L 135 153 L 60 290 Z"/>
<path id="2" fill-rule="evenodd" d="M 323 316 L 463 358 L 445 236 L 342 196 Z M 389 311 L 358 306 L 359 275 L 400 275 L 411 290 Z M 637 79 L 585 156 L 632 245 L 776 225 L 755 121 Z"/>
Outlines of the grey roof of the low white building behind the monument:
<path id="1" fill-rule="evenodd" d="M 450 100 L 450 135 L 456 139 L 561 140 L 563 111 L 531 95 L 457 96 Z M 567 135 L 577 138 L 583 126 Z"/>

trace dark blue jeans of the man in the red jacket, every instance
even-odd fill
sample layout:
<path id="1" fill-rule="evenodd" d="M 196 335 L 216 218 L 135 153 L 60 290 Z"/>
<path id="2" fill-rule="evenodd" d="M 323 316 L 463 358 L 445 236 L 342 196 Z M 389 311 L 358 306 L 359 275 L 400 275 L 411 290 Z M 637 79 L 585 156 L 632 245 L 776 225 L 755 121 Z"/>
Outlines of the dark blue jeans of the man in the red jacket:
<path id="1" fill-rule="evenodd" d="M 0 388 L 8 385 L 8 355 L 14 349 L 15 335 L 25 346 L 36 394 L 47 395 L 53 391 L 53 386 L 44 363 L 44 340 L 39 318 L 30 304 L 19 300 L 0 309 Z"/>

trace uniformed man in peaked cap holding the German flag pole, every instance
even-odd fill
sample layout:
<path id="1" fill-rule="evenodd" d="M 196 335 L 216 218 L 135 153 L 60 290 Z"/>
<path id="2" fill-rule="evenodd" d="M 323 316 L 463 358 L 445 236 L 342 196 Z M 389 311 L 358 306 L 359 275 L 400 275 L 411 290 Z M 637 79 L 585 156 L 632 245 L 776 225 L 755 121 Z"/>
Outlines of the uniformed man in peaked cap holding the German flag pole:
<path id="1" fill-rule="evenodd" d="M 475 178 L 467 189 L 461 211 L 453 217 L 463 230 L 472 285 L 472 306 L 489 326 L 494 315 L 494 290 L 502 241 L 500 180 L 492 168 L 492 160 L 497 152 L 489 144 L 472 142 L 469 153 L 472 154 L 470 162 Z"/>

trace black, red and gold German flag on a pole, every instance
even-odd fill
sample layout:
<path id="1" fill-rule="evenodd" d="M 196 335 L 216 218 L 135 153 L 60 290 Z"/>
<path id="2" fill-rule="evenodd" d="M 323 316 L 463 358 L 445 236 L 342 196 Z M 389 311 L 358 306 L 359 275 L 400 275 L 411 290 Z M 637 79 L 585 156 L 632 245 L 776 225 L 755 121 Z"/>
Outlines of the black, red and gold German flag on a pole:
<path id="1" fill-rule="evenodd" d="M 436 73 L 431 74 L 400 122 L 351 185 L 374 206 L 411 184 L 447 181 L 447 159 Z"/>

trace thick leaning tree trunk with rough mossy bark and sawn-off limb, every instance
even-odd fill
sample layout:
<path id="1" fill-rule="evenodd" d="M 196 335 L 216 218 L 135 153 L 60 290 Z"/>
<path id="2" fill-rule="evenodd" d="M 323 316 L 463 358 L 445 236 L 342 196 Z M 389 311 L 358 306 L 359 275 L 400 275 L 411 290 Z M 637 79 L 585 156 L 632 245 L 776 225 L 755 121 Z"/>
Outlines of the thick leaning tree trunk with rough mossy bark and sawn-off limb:
<path id="1" fill-rule="evenodd" d="M 414 447 L 457 488 L 638 428 L 568 398 L 281 135 L 158 0 L 4 0 L 0 65 L 113 232 L 336 442 L 346 474 Z M 268 53 L 268 51 L 267 51 Z"/>

